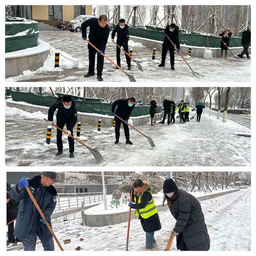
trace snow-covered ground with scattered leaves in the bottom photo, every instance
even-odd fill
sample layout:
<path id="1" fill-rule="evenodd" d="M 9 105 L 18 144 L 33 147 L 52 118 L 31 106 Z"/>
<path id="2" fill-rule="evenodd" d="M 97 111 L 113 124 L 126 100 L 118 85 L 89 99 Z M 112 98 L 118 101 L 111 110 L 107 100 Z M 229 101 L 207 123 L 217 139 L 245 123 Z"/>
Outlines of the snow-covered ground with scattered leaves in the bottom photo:
<path id="1" fill-rule="evenodd" d="M 211 251 L 251 250 L 251 188 L 215 197 L 201 202 L 205 223 L 211 238 Z M 162 229 L 155 233 L 155 250 L 163 251 L 175 219 L 169 210 L 159 212 Z M 128 218 L 128 217 L 127 217 Z M 53 230 L 63 249 L 74 251 L 125 251 L 127 222 L 104 227 L 81 226 L 81 220 L 53 223 Z M 83 241 L 79 239 L 83 238 Z M 63 244 L 65 239 L 70 243 Z M 145 233 L 140 221 L 133 219 L 130 228 L 129 250 L 140 251 L 145 247 Z M 39 243 L 36 250 L 42 251 Z M 55 244 L 55 250 L 59 250 Z M 175 238 L 172 249 L 176 250 Z"/>

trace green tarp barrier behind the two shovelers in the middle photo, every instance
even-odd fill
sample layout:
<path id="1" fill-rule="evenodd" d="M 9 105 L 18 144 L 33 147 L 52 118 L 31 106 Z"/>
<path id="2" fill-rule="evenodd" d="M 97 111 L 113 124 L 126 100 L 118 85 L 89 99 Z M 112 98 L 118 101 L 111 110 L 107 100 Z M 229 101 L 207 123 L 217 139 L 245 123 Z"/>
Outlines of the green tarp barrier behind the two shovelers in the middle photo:
<path id="1" fill-rule="evenodd" d="M 40 96 L 34 93 L 12 91 L 12 100 L 23 101 L 33 105 L 50 107 L 56 97 L 51 95 Z M 65 94 L 61 94 L 65 95 Z M 100 101 L 81 101 L 75 99 L 76 96 L 71 95 L 76 103 L 77 111 L 84 113 L 95 113 L 101 115 L 110 115 L 112 103 L 102 103 Z M 82 98 L 82 97 L 78 97 Z M 85 98 L 84 98 L 85 99 Z M 132 111 L 132 117 L 149 115 L 150 106 L 135 106 Z M 161 113 L 161 106 L 158 107 L 158 113 Z"/>

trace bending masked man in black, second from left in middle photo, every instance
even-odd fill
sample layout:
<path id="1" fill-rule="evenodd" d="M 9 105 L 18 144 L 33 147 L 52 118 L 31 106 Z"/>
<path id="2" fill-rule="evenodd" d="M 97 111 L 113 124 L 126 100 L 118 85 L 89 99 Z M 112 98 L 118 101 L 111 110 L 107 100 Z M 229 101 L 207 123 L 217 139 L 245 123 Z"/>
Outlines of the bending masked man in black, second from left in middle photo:
<path id="1" fill-rule="evenodd" d="M 117 106 L 117 108 L 116 108 Z M 125 143 L 132 145 L 132 142 L 130 141 L 130 131 L 128 126 L 128 120 L 132 114 L 132 110 L 135 106 L 135 99 L 133 97 L 129 99 L 120 99 L 113 102 L 112 108 L 111 108 L 111 115 L 115 116 L 115 114 L 119 117 L 121 117 L 123 121 L 121 121 L 118 117 L 115 116 L 115 134 L 116 134 L 116 141 L 115 144 L 119 143 L 119 137 L 120 137 L 120 127 L 121 123 L 124 127 L 124 135 L 126 138 Z M 116 108 L 116 110 L 115 110 Z"/>

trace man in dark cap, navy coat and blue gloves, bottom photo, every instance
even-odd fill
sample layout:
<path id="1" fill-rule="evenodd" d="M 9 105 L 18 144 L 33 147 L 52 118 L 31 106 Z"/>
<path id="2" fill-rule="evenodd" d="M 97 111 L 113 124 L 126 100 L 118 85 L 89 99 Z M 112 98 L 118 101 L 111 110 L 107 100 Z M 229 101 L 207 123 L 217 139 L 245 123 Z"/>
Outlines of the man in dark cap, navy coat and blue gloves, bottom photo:
<path id="1" fill-rule="evenodd" d="M 56 172 L 42 172 L 31 180 L 21 178 L 10 191 L 11 197 L 20 203 L 14 236 L 22 241 L 24 251 L 35 251 L 37 237 L 41 240 L 44 251 L 54 251 L 52 234 L 26 190 L 26 187 L 30 189 L 51 226 L 51 215 L 57 203 L 57 191 L 52 186 L 53 182 L 58 182 Z"/>

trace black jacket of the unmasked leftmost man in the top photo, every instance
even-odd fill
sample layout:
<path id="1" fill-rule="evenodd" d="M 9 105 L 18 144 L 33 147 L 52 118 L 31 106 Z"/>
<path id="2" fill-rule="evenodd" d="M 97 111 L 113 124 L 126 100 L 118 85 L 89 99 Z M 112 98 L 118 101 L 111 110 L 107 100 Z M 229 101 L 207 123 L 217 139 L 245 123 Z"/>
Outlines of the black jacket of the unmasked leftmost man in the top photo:
<path id="1" fill-rule="evenodd" d="M 94 44 L 99 50 L 105 50 L 106 44 L 108 42 L 108 36 L 110 33 L 110 28 L 107 25 L 106 27 L 102 28 L 99 25 L 98 18 L 91 18 L 89 20 L 85 20 L 82 25 L 82 37 L 87 36 L 87 27 L 90 27 L 89 33 L 89 41 Z M 88 47 L 92 47 L 88 45 Z"/>

